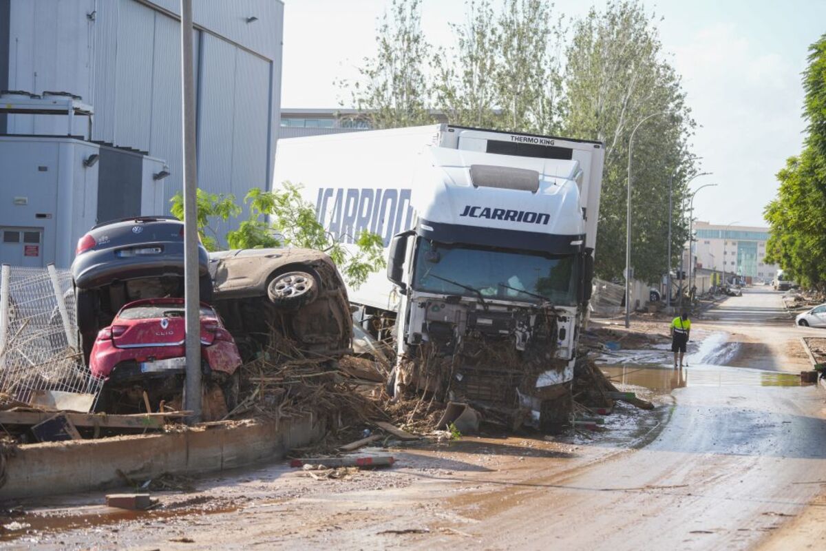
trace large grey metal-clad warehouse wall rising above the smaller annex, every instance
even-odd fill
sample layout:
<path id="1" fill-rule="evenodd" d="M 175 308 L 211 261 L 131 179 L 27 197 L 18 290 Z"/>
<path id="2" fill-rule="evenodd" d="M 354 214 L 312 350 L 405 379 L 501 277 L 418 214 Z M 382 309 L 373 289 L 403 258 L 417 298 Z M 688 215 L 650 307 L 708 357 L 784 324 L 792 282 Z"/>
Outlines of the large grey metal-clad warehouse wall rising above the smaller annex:
<path id="1" fill-rule="evenodd" d="M 199 186 L 243 197 L 269 185 L 283 4 L 193 4 Z M 183 172 L 178 8 L 178 0 L 10 0 L 7 33 L 7 88 L 82 96 L 95 109 L 93 139 L 167 160 L 166 199 L 181 189 Z M 86 120 L 78 119 L 74 133 L 83 135 Z M 7 131 L 64 135 L 65 124 L 60 116 L 14 115 Z M 153 214 L 169 214 L 162 208 Z"/>

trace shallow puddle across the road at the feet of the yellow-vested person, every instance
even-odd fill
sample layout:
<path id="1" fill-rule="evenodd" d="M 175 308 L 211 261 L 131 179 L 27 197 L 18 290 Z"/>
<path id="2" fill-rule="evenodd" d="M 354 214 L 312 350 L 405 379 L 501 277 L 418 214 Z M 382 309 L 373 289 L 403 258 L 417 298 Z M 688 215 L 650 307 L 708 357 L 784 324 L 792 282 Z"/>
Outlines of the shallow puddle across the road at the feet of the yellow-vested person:
<path id="1" fill-rule="evenodd" d="M 682 369 L 670 365 L 603 365 L 601 370 L 615 384 L 645 387 L 655 392 L 670 392 L 682 387 L 800 387 L 800 377 L 794 373 L 709 363 L 689 363 Z"/>

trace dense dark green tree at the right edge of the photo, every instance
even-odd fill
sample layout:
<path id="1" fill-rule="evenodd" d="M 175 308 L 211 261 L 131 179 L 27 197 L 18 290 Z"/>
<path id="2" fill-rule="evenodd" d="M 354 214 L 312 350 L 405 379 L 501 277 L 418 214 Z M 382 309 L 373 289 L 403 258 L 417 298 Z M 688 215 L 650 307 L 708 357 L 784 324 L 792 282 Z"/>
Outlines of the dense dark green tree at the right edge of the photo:
<path id="1" fill-rule="evenodd" d="M 777 173 L 780 187 L 764 216 L 771 229 L 766 262 L 801 285 L 826 291 L 826 35 L 809 47 L 803 74 L 804 150 Z"/>

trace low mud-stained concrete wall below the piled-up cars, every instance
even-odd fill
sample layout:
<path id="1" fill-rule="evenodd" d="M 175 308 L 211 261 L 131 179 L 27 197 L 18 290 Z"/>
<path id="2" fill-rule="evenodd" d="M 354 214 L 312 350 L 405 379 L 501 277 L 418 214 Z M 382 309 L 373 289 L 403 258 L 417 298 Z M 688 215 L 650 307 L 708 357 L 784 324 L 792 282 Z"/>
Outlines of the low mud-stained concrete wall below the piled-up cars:
<path id="1" fill-rule="evenodd" d="M 144 481 L 163 473 L 215 473 L 278 460 L 290 449 L 320 439 L 324 432 L 324 422 L 306 416 L 162 435 L 26 444 L 7 457 L 0 499 L 123 486 L 126 482 L 117 471 Z"/>

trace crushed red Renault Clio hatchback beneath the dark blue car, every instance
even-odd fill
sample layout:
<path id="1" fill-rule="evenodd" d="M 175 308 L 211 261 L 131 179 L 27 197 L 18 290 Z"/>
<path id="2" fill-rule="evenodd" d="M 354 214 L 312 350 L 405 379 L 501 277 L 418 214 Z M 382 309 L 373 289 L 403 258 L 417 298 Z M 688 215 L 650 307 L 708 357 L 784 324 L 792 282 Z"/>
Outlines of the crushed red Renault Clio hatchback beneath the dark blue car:
<path id="1" fill-rule="evenodd" d="M 186 370 L 183 298 L 130 302 L 104 327 L 89 358 L 93 376 L 105 378 L 97 410 L 140 405 L 143 394 L 158 407 L 180 394 Z M 220 386 L 228 408 L 238 398 L 241 357 L 212 306 L 201 303 L 201 359 L 204 382 Z"/>

